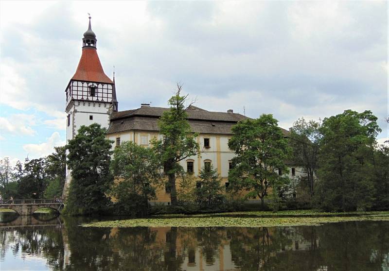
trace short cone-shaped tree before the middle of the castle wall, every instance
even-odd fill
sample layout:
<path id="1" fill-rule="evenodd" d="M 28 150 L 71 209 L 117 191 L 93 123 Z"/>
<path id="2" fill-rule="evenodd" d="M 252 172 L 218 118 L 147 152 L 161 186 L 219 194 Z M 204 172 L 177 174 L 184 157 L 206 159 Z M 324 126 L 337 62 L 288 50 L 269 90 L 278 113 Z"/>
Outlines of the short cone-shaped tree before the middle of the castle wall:
<path id="1" fill-rule="evenodd" d="M 199 186 L 195 189 L 195 199 L 201 207 L 212 208 L 225 201 L 224 188 L 220 185 L 217 170 L 212 166 L 210 169 L 204 167 L 201 169 L 198 184 Z"/>

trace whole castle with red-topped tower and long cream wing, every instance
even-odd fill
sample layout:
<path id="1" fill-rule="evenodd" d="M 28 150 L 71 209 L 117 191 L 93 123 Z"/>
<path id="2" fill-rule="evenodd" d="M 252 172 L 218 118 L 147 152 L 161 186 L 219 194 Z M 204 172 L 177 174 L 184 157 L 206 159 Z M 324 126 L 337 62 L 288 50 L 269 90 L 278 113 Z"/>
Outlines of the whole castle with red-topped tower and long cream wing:
<path id="1" fill-rule="evenodd" d="M 66 140 L 72 139 L 82 125 L 95 122 L 107 128 L 107 138 L 114 141 L 112 149 L 124 141 L 133 141 L 148 147 L 153 137 L 162 139 L 158 119 L 169 108 L 141 104 L 137 109 L 118 111 L 115 79 L 109 79 L 104 73 L 97 54 L 97 39 L 91 29 L 90 17 L 88 30 L 84 33 L 82 41 L 80 62 L 65 90 Z M 187 109 L 187 113 L 192 131 L 199 134 L 197 142 L 201 154 L 180 161 L 181 166 L 193 178 L 197 178 L 202 167 L 212 165 L 217 169 L 222 184 L 229 186 L 228 172 L 231 159 L 235 155 L 228 147 L 228 141 L 232 136 L 231 127 L 247 117 L 233 113 L 232 109 L 226 112 L 212 112 L 193 105 Z M 288 131 L 282 130 L 284 136 L 287 136 Z M 297 167 L 293 165 L 290 167 L 290 177 L 301 174 Z M 67 169 L 65 187 L 70 183 L 70 174 L 70 170 Z M 158 190 L 157 198 L 158 203 L 170 204 L 170 193 L 166 189 Z"/>

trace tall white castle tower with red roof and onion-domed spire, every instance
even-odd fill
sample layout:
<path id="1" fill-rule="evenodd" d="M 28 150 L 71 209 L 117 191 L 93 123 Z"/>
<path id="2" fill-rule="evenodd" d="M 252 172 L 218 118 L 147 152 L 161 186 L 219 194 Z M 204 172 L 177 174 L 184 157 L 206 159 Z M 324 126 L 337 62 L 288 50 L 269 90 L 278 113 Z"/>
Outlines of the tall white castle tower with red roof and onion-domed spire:
<path id="1" fill-rule="evenodd" d="M 80 62 L 66 87 L 66 141 L 72 139 L 82 125 L 99 123 L 108 128 L 112 111 L 118 111 L 115 82 L 106 76 L 97 55 L 96 34 L 90 25 L 82 39 Z M 115 79 L 114 79 L 115 80 Z M 70 170 L 66 170 L 66 188 L 70 183 Z"/>

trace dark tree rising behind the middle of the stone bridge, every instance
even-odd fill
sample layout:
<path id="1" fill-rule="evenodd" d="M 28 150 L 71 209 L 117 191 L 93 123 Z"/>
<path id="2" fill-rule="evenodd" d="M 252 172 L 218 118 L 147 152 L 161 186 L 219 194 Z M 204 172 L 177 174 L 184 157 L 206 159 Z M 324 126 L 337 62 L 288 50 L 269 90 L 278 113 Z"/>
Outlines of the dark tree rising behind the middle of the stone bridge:
<path id="1" fill-rule="evenodd" d="M 18 180 L 18 198 L 42 199 L 48 185 L 45 158 L 27 160 L 23 176 Z"/>

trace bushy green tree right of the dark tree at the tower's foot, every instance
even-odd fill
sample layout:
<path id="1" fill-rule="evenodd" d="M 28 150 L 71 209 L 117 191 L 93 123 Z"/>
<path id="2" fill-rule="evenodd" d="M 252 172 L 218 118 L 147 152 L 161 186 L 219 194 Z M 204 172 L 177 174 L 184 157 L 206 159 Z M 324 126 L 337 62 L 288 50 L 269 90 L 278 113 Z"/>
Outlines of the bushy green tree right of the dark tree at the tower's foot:
<path id="1" fill-rule="evenodd" d="M 162 177 L 160 169 L 160 162 L 152 149 L 131 141 L 115 148 L 111 170 L 119 180 L 112 187 L 112 195 L 124 213 L 146 213 L 148 201 L 156 197 L 156 186 Z"/>

